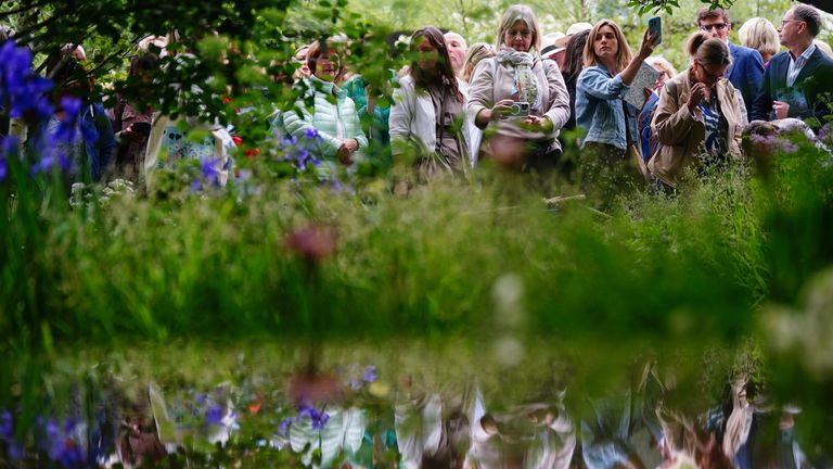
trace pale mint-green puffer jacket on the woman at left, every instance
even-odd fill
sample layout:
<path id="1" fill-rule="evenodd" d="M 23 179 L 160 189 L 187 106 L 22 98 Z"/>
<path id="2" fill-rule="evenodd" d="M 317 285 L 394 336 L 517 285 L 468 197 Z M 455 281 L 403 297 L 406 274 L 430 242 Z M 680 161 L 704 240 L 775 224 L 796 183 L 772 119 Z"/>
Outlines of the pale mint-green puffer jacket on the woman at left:
<path id="1" fill-rule="evenodd" d="M 283 125 L 286 131 L 302 139 L 308 130 L 318 130 L 322 140 L 317 156 L 329 161 L 335 160 L 342 142 L 356 139 L 359 150 L 351 157 L 354 162 L 361 160 L 363 150 L 368 148 L 368 138 L 361 129 L 361 121 L 353 100 L 335 84 L 315 76 L 309 78 L 309 92 L 315 93 L 315 113 L 310 114 L 303 103 L 298 105 L 304 110 L 303 117 L 294 111 L 284 113 Z"/>

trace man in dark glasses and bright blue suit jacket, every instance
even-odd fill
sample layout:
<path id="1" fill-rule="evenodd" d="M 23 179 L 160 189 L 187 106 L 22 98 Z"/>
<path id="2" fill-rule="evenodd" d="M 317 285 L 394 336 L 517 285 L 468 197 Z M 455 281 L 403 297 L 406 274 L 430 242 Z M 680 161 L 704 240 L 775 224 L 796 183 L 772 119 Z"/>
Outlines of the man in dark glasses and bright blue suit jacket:
<path id="1" fill-rule="evenodd" d="M 732 64 L 729 65 L 726 77 L 729 78 L 729 83 L 734 89 L 741 91 L 746 114 L 752 114 L 752 104 L 758 97 L 760 86 L 764 83 L 764 59 L 760 56 L 760 52 L 747 47 L 735 46 L 729 41 L 732 23 L 723 9 L 703 8 L 697 13 L 697 27 L 729 46 Z"/>

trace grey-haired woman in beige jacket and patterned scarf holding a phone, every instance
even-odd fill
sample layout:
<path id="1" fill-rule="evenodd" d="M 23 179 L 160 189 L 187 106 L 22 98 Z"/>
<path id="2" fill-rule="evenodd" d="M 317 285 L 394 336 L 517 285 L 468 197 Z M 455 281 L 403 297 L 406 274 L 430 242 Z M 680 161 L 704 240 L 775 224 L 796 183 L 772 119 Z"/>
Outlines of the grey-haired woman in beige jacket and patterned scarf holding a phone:
<path id="1" fill-rule="evenodd" d="M 538 54 L 540 42 L 529 7 L 512 5 L 503 13 L 498 54 L 477 66 L 469 88 L 469 111 L 484 129 L 484 159 L 544 169 L 561 157 L 556 137 L 569 118 L 569 94 L 555 62 Z"/>

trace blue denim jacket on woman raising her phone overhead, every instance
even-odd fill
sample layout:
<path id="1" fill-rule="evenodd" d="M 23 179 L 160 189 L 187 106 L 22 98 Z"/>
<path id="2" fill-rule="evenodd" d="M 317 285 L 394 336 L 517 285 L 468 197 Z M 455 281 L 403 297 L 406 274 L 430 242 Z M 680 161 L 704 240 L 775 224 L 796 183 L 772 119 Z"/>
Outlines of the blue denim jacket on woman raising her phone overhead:
<path id="1" fill-rule="evenodd" d="M 581 71 L 576 85 L 576 123 L 587 131 L 582 147 L 587 142 L 597 142 L 627 149 L 621 99 L 629 88 L 621 76 L 613 76 L 601 63 Z M 636 110 L 630 104 L 626 106 L 630 142 L 637 143 Z"/>

